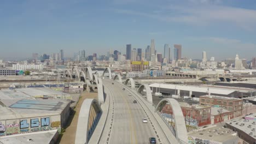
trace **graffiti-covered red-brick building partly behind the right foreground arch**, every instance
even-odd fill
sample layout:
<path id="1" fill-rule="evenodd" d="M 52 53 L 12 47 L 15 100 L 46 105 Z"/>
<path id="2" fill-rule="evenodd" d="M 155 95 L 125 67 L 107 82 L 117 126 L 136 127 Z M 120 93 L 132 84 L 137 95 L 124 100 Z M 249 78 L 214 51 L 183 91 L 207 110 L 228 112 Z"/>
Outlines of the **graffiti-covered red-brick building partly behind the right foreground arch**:
<path id="1" fill-rule="evenodd" d="M 185 119 L 185 123 L 189 127 L 202 127 L 203 125 L 211 124 L 211 107 L 200 105 L 189 105 L 188 103 L 179 103 L 181 105 L 182 113 Z M 167 115 L 171 115 L 172 109 L 170 104 L 166 104 L 162 111 Z"/>

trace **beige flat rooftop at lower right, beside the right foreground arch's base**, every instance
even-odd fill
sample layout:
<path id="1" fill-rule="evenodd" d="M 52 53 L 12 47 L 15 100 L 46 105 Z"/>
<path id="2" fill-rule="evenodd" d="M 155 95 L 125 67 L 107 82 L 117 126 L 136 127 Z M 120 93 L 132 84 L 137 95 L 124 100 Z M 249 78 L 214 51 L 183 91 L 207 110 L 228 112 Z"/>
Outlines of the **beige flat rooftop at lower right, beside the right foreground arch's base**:
<path id="1" fill-rule="evenodd" d="M 189 134 L 189 136 L 217 142 L 225 142 L 227 140 L 236 138 L 238 139 L 234 131 L 228 128 L 222 128 L 220 126 L 198 130 Z"/>

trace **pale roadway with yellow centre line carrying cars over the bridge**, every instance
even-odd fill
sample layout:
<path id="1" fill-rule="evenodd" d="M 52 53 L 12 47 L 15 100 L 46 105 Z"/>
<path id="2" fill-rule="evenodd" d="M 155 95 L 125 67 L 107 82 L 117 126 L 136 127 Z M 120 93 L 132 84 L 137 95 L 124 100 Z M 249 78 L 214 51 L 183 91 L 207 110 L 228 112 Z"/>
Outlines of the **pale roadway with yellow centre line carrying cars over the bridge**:
<path id="1" fill-rule="evenodd" d="M 113 128 L 109 136 L 109 143 L 149 143 L 149 137 L 156 137 L 150 122 L 143 123 L 142 119 L 147 118 L 142 106 L 133 103 L 135 97 L 129 96 L 127 89 L 112 80 L 103 80 L 103 85 L 112 91 L 114 102 Z M 109 115 L 110 117 L 110 115 Z M 109 132 L 109 123 L 106 123 L 100 143 L 106 143 Z M 162 140 L 161 140 L 162 141 Z M 159 142 L 158 142 L 159 143 Z"/>

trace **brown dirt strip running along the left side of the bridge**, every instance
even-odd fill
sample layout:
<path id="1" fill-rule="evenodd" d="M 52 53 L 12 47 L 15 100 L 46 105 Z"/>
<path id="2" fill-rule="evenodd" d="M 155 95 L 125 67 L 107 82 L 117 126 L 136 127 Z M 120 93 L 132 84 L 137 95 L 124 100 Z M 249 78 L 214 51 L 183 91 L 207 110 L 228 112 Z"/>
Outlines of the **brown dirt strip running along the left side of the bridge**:
<path id="1" fill-rule="evenodd" d="M 83 92 L 82 97 L 79 99 L 77 106 L 75 107 L 71 117 L 69 118 L 66 131 L 63 133 L 63 135 L 60 135 L 61 144 L 72 144 L 75 141 L 75 132 L 77 131 L 77 122 L 78 122 L 78 116 L 80 112 L 80 108 L 83 104 L 83 101 L 85 99 L 97 99 L 98 93 L 88 93 Z"/>

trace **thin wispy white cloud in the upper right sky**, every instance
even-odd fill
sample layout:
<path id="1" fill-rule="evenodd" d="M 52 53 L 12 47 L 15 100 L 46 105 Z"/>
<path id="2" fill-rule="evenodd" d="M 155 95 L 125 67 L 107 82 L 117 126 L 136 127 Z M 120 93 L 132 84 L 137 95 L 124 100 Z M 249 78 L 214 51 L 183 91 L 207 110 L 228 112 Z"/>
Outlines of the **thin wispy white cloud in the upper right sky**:
<path id="1" fill-rule="evenodd" d="M 192 0 L 195 1 L 195 0 Z M 201 3 L 216 3 L 217 1 L 201 0 Z M 162 11 L 161 14 L 155 11 Z M 169 5 L 144 13 L 134 10 L 118 10 L 118 13 L 138 15 L 168 22 L 180 22 L 197 26 L 227 25 L 237 26 L 248 31 L 256 29 L 256 10 L 226 7 L 216 4 L 197 4 L 192 6 Z"/>

